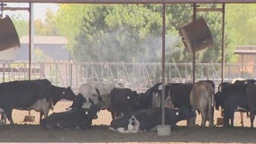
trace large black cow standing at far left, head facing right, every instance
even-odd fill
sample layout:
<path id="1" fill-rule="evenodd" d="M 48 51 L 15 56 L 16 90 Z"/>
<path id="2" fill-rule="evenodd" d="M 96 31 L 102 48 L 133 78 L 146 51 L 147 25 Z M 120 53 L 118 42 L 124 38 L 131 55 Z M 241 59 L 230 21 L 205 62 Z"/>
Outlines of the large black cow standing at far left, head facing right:
<path id="1" fill-rule="evenodd" d="M 2 108 L 11 124 L 13 109 L 35 110 L 48 116 L 50 108 L 60 99 L 73 100 L 74 92 L 70 87 L 51 85 L 47 79 L 12 81 L 0 84 L 0 108 Z"/>

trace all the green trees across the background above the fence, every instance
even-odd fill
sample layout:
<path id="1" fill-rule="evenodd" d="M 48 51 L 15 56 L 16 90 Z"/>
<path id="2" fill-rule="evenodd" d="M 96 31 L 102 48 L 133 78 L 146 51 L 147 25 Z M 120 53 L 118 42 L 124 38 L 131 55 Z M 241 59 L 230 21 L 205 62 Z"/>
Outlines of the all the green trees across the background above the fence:
<path id="1" fill-rule="evenodd" d="M 200 4 L 222 7 L 222 4 Z M 250 12 L 250 13 L 248 13 Z M 161 4 L 59 4 L 57 14 L 47 13 L 45 22 L 36 20 L 36 35 L 63 35 L 69 40 L 72 57 L 78 61 L 159 62 L 161 60 Z M 166 58 L 169 62 L 190 62 L 178 29 L 191 22 L 190 4 L 166 6 Z M 235 60 L 237 45 L 255 45 L 256 4 L 226 4 L 225 62 Z M 214 47 L 197 52 L 197 62 L 220 62 L 222 13 L 198 12 L 214 38 Z M 28 24 L 19 19 L 19 33 Z"/>

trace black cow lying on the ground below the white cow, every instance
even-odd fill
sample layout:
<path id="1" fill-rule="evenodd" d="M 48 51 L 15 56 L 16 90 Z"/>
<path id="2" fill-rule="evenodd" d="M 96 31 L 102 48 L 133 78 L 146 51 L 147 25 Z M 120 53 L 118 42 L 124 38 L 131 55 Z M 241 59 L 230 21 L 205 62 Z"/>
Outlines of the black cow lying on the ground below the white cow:
<path id="1" fill-rule="evenodd" d="M 72 109 L 67 112 L 53 112 L 49 117 L 41 120 L 44 129 L 70 129 L 87 130 L 93 119 L 97 118 L 96 112 L 100 109 L 92 105 L 89 109 Z"/>

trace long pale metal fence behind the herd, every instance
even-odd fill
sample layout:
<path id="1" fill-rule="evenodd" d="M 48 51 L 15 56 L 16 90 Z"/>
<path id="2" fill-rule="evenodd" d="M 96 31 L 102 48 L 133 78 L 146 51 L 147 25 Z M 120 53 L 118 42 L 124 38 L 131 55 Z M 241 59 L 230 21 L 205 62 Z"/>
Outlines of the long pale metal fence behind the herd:
<path id="1" fill-rule="evenodd" d="M 28 62 L 0 63 L 0 82 L 29 79 Z M 224 81 L 234 78 L 254 78 L 253 65 L 225 64 Z M 41 62 L 32 63 L 31 79 L 47 78 L 54 85 L 71 86 L 74 91 L 84 83 L 122 82 L 137 91 L 144 91 L 161 81 L 161 63 L 126 62 Z M 166 63 L 167 82 L 191 82 L 191 63 Z M 218 85 L 221 82 L 221 64 L 197 63 L 196 81 L 210 79 Z"/>

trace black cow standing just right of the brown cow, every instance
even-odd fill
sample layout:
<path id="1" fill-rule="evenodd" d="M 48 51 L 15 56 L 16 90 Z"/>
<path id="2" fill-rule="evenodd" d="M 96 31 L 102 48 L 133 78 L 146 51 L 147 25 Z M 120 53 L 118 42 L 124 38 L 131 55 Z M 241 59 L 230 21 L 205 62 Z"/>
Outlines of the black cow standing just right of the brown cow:
<path id="1" fill-rule="evenodd" d="M 234 112 L 248 112 L 249 107 L 245 97 L 246 84 L 228 84 L 219 86 L 219 92 L 215 94 L 215 109 L 221 106 L 224 110 L 224 127 L 233 127 Z M 231 124 L 229 121 L 231 120 Z"/>

